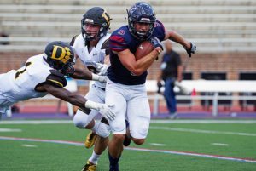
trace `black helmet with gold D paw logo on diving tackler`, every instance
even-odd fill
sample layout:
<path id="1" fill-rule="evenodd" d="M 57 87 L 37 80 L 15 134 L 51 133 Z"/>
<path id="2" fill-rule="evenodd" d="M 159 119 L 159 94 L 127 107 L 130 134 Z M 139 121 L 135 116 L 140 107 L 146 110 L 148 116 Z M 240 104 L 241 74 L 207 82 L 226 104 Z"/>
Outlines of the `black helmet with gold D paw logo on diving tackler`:
<path id="1" fill-rule="evenodd" d="M 73 48 L 61 41 L 51 42 L 44 49 L 44 60 L 50 67 L 61 71 L 64 75 L 71 75 L 75 71 Z"/>

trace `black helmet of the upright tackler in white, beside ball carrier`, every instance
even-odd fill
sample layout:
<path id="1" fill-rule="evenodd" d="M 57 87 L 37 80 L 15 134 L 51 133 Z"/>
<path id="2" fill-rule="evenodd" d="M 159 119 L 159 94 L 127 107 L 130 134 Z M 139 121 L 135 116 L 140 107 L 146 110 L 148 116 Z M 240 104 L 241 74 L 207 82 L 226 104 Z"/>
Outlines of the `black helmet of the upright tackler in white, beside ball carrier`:
<path id="1" fill-rule="evenodd" d="M 107 31 L 110 26 L 110 20 L 112 20 L 107 13 L 106 10 L 102 9 L 101 7 L 93 7 L 89 9 L 84 15 L 83 19 L 81 20 L 81 31 L 82 36 L 84 37 L 84 43 L 86 41 L 92 41 L 96 38 L 101 38 L 107 34 Z M 100 30 L 95 35 L 91 35 L 85 29 L 85 24 L 91 24 L 100 26 Z"/>

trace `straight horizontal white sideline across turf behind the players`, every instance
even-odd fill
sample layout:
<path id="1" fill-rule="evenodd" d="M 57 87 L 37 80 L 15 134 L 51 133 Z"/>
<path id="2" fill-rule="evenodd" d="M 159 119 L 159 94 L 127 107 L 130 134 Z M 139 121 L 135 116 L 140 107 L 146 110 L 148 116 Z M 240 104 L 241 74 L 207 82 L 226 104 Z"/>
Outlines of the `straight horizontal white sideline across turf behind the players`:
<path id="1" fill-rule="evenodd" d="M 73 120 L 1 120 L 1 124 L 66 124 Z M 256 120 L 151 120 L 150 123 L 256 123 Z"/>

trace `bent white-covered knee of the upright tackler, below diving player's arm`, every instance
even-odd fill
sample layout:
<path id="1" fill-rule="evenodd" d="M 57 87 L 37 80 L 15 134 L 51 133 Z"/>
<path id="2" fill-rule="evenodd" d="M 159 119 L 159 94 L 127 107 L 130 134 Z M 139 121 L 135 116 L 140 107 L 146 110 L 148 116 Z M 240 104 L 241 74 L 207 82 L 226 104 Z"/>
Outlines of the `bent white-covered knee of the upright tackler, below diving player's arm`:
<path id="1" fill-rule="evenodd" d="M 88 114 L 78 110 L 75 116 L 73 117 L 73 124 L 77 128 L 85 128 L 91 120 L 92 118 L 90 118 Z"/>

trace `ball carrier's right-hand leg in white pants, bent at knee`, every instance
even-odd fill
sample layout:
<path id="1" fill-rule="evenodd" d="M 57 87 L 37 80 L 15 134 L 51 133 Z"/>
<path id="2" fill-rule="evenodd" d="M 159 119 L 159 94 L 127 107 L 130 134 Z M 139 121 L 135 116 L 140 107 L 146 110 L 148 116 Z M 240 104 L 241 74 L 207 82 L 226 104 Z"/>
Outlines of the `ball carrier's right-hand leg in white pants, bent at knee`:
<path id="1" fill-rule="evenodd" d="M 137 96 L 127 102 L 127 117 L 131 139 L 135 144 L 142 145 L 147 137 L 150 123 L 148 97 L 142 87 L 138 88 Z"/>

